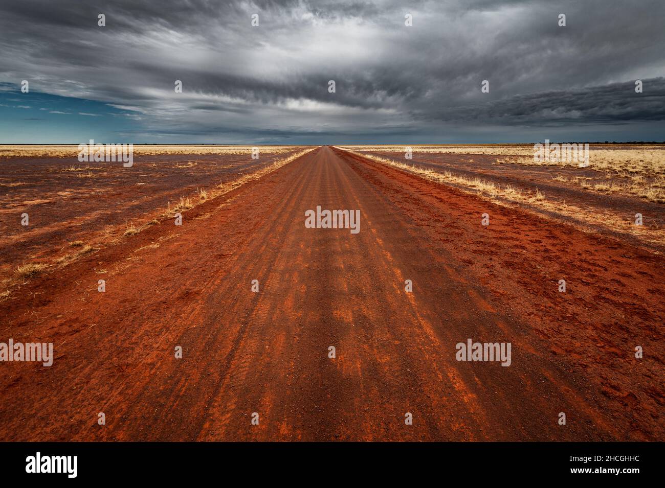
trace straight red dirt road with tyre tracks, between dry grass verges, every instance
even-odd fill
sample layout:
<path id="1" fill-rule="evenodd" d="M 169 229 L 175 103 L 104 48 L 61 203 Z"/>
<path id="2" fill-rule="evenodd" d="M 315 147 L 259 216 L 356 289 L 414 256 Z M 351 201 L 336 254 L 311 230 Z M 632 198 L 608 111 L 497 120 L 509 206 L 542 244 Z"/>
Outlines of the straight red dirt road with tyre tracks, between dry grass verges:
<path id="1" fill-rule="evenodd" d="M 0 364 L 0 440 L 665 440 L 662 256 L 331 147 L 183 216 L 0 303 L 55 347 Z"/>

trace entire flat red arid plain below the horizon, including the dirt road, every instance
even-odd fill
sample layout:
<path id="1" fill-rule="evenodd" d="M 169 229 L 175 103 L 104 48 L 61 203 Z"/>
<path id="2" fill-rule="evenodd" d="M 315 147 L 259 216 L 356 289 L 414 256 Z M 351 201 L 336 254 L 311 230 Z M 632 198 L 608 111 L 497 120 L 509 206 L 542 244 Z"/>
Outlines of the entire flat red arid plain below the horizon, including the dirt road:
<path id="1" fill-rule="evenodd" d="M 0 146 L 0 440 L 664 440 L 665 146 L 410 148 Z"/>

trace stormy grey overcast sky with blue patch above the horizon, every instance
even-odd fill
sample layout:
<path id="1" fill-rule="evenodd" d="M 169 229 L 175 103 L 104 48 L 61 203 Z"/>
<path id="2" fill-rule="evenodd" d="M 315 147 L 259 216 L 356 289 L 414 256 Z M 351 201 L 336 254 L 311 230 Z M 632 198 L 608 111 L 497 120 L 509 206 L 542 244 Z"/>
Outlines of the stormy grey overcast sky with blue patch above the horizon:
<path id="1" fill-rule="evenodd" d="M 0 143 L 664 141 L 664 23 L 664 0 L 7 0 Z"/>

